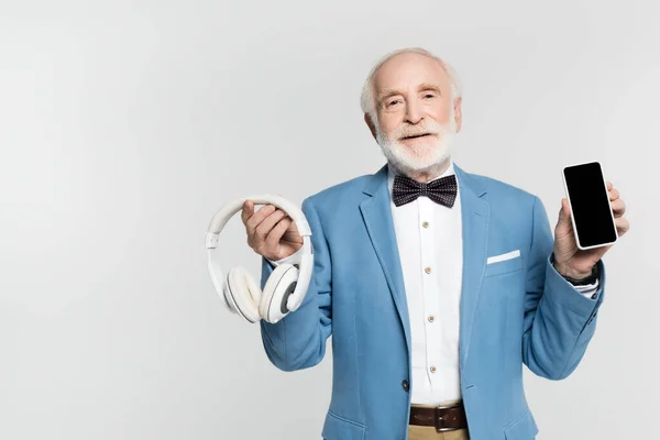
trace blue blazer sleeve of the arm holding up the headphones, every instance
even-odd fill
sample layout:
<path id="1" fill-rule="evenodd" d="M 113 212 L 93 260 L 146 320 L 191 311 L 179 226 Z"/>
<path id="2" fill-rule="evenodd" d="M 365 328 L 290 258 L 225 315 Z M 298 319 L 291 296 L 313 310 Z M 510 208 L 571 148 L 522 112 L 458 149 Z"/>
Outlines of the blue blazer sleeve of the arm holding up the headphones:
<path id="1" fill-rule="evenodd" d="M 326 342 L 332 332 L 331 266 L 321 221 L 310 199 L 302 201 L 302 213 L 311 230 L 314 270 L 307 294 L 298 309 L 278 322 L 260 321 L 262 342 L 268 360 L 282 371 L 317 365 L 326 355 Z M 262 257 L 263 290 L 274 267 Z"/>

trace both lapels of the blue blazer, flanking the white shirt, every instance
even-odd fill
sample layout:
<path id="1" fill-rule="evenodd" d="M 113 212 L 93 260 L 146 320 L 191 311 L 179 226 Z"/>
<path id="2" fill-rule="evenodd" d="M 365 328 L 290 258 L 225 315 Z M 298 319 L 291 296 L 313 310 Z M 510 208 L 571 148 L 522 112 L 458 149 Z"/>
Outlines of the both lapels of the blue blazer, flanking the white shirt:
<path id="1" fill-rule="evenodd" d="M 463 274 L 461 289 L 460 361 L 461 369 L 469 351 L 469 341 L 479 302 L 481 283 L 486 268 L 487 228 L 490 205 L 482 198 L 485 187 L 471 174 L 465 173 L 454 162 L 461 197 L 463 235 Z M 399 321 L 406 337 L 408 355 L 410 348 L 410 321 L 404 285 L 400 256 L 392 218 L 389 188 L 387 187 L 387 164 L 370 176 L 364 194 L 371 196 L 360 204 L 360 210 L 374 251 L 385 274 Z"/>

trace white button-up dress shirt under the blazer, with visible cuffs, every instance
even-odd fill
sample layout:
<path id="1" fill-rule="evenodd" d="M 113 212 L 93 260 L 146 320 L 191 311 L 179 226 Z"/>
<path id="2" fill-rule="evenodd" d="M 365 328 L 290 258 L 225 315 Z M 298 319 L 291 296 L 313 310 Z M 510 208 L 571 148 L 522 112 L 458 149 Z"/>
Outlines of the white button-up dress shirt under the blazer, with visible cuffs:
<path id="1" fill-rule="evenodd" d="M 447 170 L 436 178 L 451 174 L 455 173 L 450 157 Z M 391 195 L 394 176 L 395 172 L 388 167 Z M 391 196 L 410 321 L 413 404 L 439 405 L 461 398 L 459 326 L 463 241 L 460 194 L 459 183 L 452 208 L 428 197 L 418 197 L 397 207 Z M 268 261 L 276 266 L 294 255 L 277 262 Z M 592 297 L 597 280 L 575 288 Z"/>

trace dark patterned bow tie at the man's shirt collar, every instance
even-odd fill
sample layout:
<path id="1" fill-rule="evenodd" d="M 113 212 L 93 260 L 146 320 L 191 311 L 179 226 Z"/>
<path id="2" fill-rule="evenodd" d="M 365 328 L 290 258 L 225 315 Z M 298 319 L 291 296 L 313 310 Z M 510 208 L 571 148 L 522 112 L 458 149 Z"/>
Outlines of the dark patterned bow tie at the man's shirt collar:
<path id="1" fill-rule="evenodd" d="M 419 196 L 427 196 L 435 202 L 451 208 L 457 199 L 457 188 L 455 174 L 431 180 L 428 184 L 422 184 L 410 177 L 397 174 L 394 177 L 392 199 L 394 200 L 394 205 L 398 207 L 409 204 Z"/>

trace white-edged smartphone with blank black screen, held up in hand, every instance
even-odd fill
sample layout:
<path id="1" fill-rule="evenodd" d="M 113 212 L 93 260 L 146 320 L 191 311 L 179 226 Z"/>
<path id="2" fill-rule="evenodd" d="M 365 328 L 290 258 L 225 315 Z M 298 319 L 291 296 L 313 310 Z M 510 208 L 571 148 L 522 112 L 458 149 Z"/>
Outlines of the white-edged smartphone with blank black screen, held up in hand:
<path id="1" fill-rule="evenodd" d="M 615 243 L 618 232 L 601 163 L 568 165 L 562 177 L 578 248 L 587 250 Z"/>

